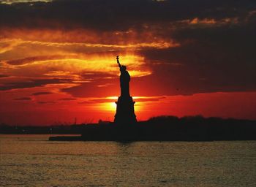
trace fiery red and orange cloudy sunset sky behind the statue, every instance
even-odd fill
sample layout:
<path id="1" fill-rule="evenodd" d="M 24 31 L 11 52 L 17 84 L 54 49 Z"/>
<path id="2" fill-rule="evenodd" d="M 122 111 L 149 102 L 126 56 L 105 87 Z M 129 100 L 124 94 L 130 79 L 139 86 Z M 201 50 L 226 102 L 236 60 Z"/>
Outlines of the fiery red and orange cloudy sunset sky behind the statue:
<path id="1" fill-rule="evenodd" d="M 256 119 L 256 1 L 0 2 L 0 123 L 113 121 L 116 55 L 138 120 Z"/>

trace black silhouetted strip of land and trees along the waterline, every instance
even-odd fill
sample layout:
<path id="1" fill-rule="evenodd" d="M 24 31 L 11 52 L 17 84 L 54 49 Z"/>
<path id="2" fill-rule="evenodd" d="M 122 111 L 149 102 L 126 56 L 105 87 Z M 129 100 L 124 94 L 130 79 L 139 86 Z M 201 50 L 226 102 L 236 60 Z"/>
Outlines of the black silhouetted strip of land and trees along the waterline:
<path id="1" fill-rule="evenodd" d="M 93 141 L 211 141 L 256 140 L 256 121 L 203 118 L 202 116 L 159 116 L 135 124 L 99 123 L 69 126 L 0 126 L 1 134 L 81 134 L 51 137 L 50 140 Z"/>

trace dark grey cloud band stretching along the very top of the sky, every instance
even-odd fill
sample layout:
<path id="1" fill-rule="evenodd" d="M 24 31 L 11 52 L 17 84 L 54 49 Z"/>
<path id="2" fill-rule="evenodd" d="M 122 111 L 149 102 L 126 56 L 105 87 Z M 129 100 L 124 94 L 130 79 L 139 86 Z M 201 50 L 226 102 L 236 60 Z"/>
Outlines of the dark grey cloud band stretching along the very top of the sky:
<path id="1" fill-rule="evenodd" d="M 169 23 L 190 18 L 245 17 L 256 2 L 211 0 L 52 1 L 0 4 L 1 26 L 27 28 L 94 28 L 124 30 L 144 23 Z"/>

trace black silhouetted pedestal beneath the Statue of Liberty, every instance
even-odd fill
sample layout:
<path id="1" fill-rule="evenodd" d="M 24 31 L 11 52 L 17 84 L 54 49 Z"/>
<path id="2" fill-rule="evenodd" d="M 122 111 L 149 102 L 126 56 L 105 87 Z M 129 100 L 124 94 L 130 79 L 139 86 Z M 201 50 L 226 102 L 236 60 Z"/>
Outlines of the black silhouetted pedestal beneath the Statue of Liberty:
<path id="1" fill-rule="evenodd" d="M 134 110 L 135 102 L 132 100 L 131 96 L 119 96 L 116 102 L 116 115 L 115 123 L 118 124 L 132 124 L 136 123 L 136 115 Z"/>

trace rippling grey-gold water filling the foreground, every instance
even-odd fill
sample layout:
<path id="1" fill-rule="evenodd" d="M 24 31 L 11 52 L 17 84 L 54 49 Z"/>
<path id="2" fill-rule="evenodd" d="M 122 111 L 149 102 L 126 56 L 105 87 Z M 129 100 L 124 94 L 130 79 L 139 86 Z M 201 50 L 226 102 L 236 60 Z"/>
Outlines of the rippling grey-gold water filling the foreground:
<path id="1" fill-rule="evenodd" d="M 0 135 L 0 186 L 256 186 L 256 141 L 47 140 Z"/>

